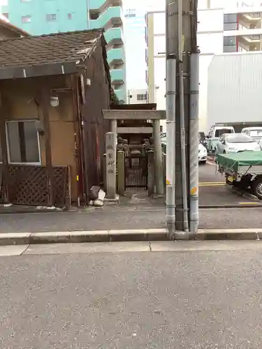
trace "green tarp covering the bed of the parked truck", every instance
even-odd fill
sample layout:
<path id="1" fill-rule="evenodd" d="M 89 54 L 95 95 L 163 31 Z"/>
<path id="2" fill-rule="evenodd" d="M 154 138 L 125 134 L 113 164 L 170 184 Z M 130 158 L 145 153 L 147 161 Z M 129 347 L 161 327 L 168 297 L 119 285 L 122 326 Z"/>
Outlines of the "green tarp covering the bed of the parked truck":
<path id="1" fill-rule="evenodd" d="M 239 153 L 219 154 L 215 161 L 224 169 L 238 172 L 240 166 L 262 165 L 262 151 L 240 151 Z"/>

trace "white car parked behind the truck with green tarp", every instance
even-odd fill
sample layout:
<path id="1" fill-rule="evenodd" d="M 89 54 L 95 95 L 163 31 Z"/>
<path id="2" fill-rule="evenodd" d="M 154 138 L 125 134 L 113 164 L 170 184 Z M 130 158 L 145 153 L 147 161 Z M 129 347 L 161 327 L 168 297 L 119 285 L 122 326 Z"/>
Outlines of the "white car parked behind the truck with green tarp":
<path id="1" fill-rule="evenodd" d="M 239 151 L 261 151 L 261 146 L 245 133 L 224 133 L 217 142 L 217 154 L 238 153 Z"/>

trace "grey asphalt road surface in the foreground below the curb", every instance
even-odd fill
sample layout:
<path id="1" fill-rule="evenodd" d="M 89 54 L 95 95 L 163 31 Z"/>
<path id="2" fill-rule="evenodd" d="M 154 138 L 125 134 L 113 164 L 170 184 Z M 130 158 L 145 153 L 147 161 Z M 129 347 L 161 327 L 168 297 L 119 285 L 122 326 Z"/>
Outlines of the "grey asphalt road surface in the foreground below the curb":
<path id="1" fill-rule="evenodd" d="M 209 246 L 0 258 L 0 346 L 260 349 L 262 245 Z"/>

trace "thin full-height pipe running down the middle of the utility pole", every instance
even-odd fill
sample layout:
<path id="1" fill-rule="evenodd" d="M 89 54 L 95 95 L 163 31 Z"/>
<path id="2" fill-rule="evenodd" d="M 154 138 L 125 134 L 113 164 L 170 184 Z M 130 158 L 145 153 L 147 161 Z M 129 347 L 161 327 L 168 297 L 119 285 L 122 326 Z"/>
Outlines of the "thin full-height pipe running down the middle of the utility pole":
<path id="1" fill-rule="evenodd" d="M 182 32 L 182 0 L 178 1 L 178 75 L 180 90 L 180 142 L 181 142 L 181 168 L 182 168 L 182 202 L 184 231 L 189 231 L 188 207 L 187 207 L 187 164 L 184 135 L 184 79 L 183 79 L 183 32 Z"/>

